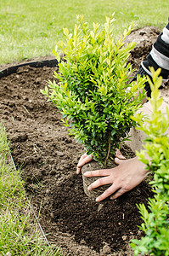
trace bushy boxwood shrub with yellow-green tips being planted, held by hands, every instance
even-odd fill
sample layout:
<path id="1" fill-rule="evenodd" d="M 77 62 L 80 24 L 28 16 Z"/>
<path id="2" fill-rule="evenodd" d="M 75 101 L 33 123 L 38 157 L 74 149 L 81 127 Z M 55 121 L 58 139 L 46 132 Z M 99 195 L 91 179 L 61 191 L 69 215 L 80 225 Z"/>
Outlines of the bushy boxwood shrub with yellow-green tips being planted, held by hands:
<path id="1" fill-rule="evenodd" d="M 115 40 L 114 21 L 106 17 L 104 25 L 93 23 L 89 29 L 83 15 L 78 15 L 73 33 L 64 28 L 65 40 L 57 42 L 54 50 L 59 61 L 59 73 L 54 75 L 58 82 L 49 81 L 42 90 L 63 113 L 70 135 L 104 166 L 136 125 L 131 116 L 145 96 L 144 90 L 138 94 L 144 79 L 129 83 L 133 70 L 127 58 L 135 43 L 125 44 L 124 40 L 132 25 Z"/>

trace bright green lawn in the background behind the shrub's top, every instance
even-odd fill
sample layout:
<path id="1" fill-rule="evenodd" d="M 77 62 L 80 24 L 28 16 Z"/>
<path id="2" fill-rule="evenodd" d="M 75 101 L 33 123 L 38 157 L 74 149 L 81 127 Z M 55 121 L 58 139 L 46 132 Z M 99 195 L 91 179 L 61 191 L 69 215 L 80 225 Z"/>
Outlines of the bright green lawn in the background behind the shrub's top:
<path id="1" fill-rule="evenodd" d="M 76 15 L 85 15 L 89 23 L 104 22 L 115 12 L 115 35 L 132 20 L 136 27 L 167 23 L 166 0 L 1 0 L 0 64 L 36 56 L 53 55 L 54 42 L 63 36 L 62 28 L 71 31 Z"/>

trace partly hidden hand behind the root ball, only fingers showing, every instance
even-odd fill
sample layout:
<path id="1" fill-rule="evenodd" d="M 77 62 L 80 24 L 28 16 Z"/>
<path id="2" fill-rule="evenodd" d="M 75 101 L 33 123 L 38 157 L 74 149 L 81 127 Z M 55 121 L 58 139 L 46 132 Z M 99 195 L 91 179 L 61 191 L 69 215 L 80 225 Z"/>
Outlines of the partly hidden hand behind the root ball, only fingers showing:
<path id="1" fill-rule="evenodd" d="M 119 149 L 116 149 L 115 152 L 115 157 L 121 159 L 121 160 L 125 160 L 126 158 L 121 154 L 121 151 Z M 81 172 L 82 166 L 84 166 L 85 164 L 89 163 L 90 161 L 93 160 L 93 155 L 92 154 L 82 154 L 77 167 L 76 167 L 76 174 L 79 174 Z"/>

